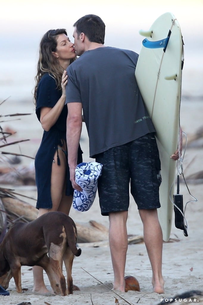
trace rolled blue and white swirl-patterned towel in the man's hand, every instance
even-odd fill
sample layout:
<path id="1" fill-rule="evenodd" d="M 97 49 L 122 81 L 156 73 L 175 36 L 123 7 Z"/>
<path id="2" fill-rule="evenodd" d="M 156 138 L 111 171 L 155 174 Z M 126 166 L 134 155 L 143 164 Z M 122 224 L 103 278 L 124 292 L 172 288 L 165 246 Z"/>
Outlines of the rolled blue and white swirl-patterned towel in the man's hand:
<path id="1" fill-rule="evenodd" d="M 73 208 L 80 212 L 88 211 L 97 192 L 97 180 L 102 174 L 102 164 L 98 162 L 80 163 L 75 169 L 75 182 L 82 192 L 74 190 Z"/>

